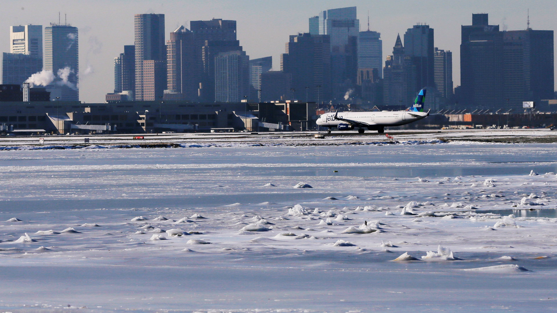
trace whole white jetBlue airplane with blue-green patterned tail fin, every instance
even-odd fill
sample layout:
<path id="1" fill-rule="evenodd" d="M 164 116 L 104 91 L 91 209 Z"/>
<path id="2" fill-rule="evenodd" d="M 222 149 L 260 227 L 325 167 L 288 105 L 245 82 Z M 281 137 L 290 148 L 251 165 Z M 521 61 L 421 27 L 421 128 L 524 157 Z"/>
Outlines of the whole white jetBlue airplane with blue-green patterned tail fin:
<path id="1" fill-rule="evenodd" d="M 423 111 L 423 101 L 426 97 L 426 89 L 422 89 L 414 105 L 409 111 L 377 111 L 377 112 L 340 112 L 325 113 L 317 119 L 316 124 L 328 127 L 327 133 L 331 133 L 331 128 L 338 130 L 352 130 L 358 128 L 358 133 L 364 133 L 364 128 L 377 130 L 379 134 L 385 132 L 385 126 L 400 126 L 426 118 L 429 115 Z"/>

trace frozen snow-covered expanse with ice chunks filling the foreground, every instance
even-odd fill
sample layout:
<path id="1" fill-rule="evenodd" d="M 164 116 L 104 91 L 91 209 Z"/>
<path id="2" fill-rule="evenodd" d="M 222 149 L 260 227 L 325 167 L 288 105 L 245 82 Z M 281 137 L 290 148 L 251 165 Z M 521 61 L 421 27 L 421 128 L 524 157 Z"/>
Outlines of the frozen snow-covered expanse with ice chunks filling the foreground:
<path id="1" fill-rule="evenodd" d="M 557 311 L 556 151 L 0 151 L 0 312 Z"/>

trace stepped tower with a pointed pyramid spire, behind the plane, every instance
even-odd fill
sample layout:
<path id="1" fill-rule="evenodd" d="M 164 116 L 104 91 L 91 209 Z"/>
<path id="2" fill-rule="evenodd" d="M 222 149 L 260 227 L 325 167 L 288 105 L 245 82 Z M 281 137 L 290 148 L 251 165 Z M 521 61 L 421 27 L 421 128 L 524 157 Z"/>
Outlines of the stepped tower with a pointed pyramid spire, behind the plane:
<path id="1" fill-rule="evenodd" d="M 416 97 L 416 66 L 412 57 L 405 55 L 397 35 L 393 55 L 387 57 L 383 69 L 383 102 L 386 105 L 410 106 Z"/>

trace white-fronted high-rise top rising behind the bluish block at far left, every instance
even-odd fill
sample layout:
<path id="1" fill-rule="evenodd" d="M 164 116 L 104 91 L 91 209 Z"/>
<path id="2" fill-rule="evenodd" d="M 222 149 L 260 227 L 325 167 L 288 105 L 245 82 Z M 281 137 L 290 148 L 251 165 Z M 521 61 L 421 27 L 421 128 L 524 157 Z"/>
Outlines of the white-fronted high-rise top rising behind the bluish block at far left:
<path id="1" fill-rule="evenodd" d="M 9 52 L 42 57 L 42 25 L 10 26 Z"/>

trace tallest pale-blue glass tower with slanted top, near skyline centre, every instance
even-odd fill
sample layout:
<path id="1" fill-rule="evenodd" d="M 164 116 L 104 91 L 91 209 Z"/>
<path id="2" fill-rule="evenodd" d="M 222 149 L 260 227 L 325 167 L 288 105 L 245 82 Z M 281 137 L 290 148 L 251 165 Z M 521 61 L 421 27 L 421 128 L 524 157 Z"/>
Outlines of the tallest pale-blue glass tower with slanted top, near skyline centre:
<path id="1" fill-rule="evenodd" d="M 356 7 L 330 9 L 319 13 L 319 34 L 330 36 L 333 99 L 342 99 L 356 84 L 359 28 Z"/>

